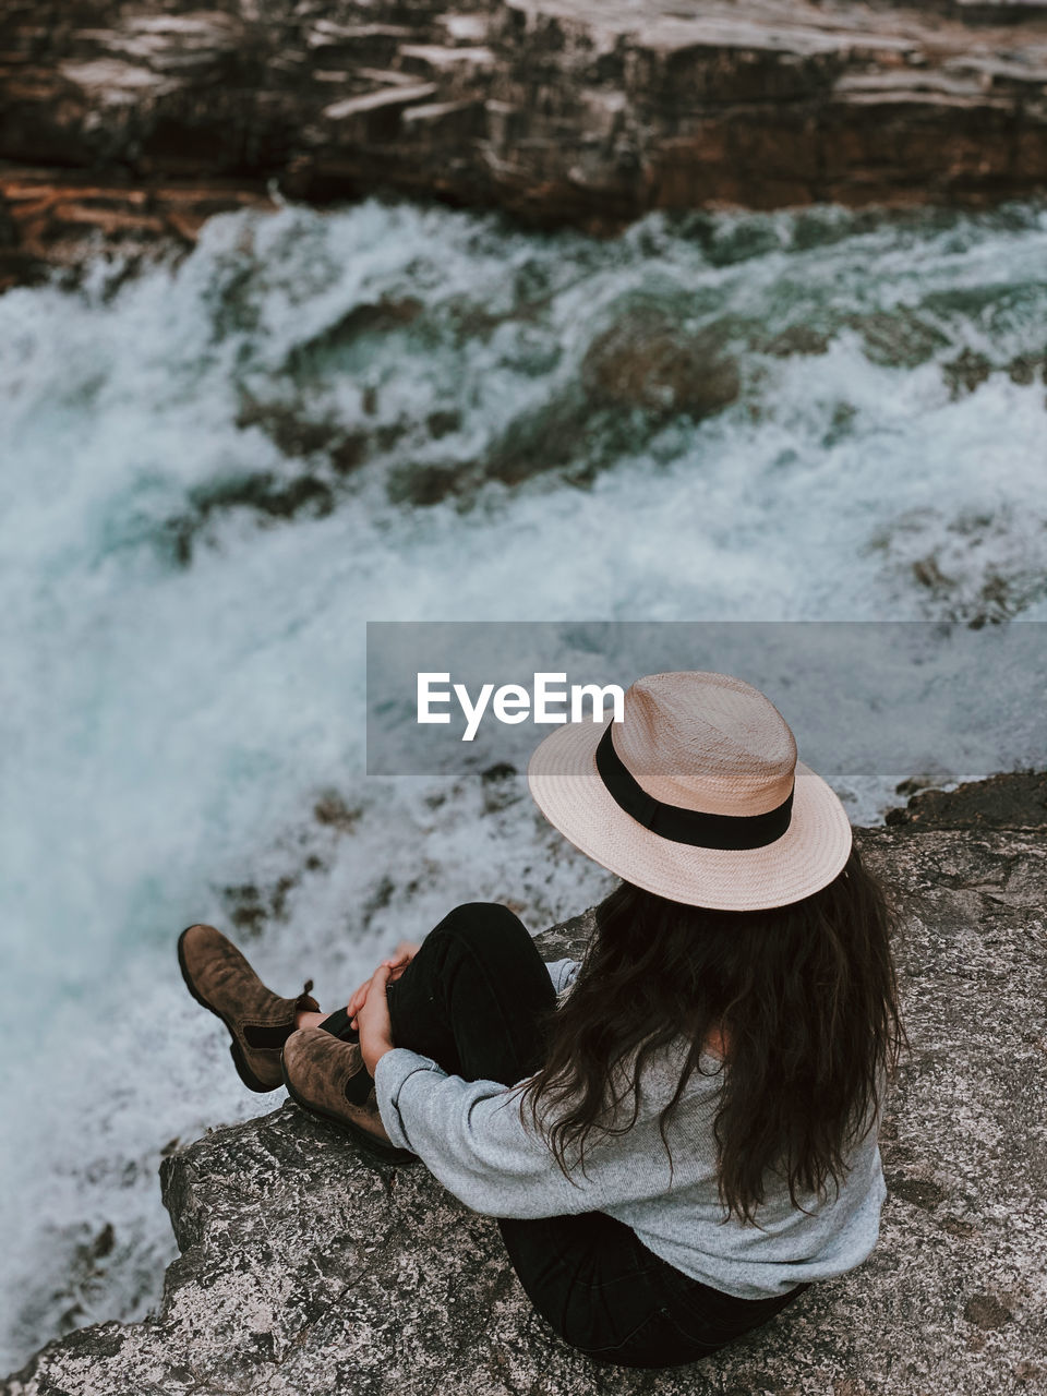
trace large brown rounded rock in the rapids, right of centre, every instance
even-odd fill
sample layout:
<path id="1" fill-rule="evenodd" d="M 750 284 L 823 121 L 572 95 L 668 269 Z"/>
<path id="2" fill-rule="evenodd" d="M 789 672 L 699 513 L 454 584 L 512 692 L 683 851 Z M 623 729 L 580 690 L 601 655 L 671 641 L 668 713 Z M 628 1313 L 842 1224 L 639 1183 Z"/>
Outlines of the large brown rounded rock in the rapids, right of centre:
<path id="1" fill-rule="evenodd" d="M 582 360 L 581 381 L 593 402 L 639 408 L 655 417 L 701 420 L 741 392 L 738 367 L 712 331 L 688 334 L 662 310 L 632 310 L 599 334 Z"/>

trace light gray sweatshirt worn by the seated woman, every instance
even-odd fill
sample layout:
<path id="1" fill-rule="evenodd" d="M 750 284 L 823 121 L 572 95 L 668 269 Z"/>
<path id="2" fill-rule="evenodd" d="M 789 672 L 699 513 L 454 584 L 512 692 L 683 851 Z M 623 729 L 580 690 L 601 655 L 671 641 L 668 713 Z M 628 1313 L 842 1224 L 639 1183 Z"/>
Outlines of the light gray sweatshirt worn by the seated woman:
<path id="1" fill-rule="evenodd" d="M 570 990 L 578 963 L 556 960 L 557 995 Z M 740 1298 L 783 1294 L 801 1282 L 825 1280 L 859 1265 L 879 1234 L 886 1196 L 874 1128 L 850 1156 L 839 1194 L 801 1198 L 772 1174 L 758 1226 L 726 1217 L 716 1187 L 712 1121 L 722 1064 L 702 1055 L 666 1127 L 658 1115 L 680 1079 L 683 1046 L 667 1048 L 644 1074 L 639 1113 L 627 1132 L 591 1136 L 585 1175 L 571 1160 L 571 1180 L 549 1145 L 521 1115 L 519 1094 L 493 1081 L 451 1076 L 430 1057 L 394 1047 L 376 1067 L 376 1096 L 389 1139 L 413 1149 L 444 1187 L 473 1212 L 494 1217 L 549 1217 L 607 1212 L 632 1227 L 642 1244 L 678 1270 Z M 627 1100 L 631 1118 L 632 1101 Z M 877 1121 L 878 1125 L 878 1121 Z"/>

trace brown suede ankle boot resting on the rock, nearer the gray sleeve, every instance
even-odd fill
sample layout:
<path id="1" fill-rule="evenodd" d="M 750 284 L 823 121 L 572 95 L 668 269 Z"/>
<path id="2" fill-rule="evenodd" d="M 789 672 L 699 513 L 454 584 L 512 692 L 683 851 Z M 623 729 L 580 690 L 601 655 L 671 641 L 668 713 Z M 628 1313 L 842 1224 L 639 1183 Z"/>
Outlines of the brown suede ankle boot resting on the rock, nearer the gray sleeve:
<path id="1" fill-rule="evenodd" d="M 283 1081 L 296 1106 L 342 1125 L 374 1159 L 417 1163 L 416 1153 L 389 1142 L 357 1043 L 299 1027 L 283 1046 Z"/>

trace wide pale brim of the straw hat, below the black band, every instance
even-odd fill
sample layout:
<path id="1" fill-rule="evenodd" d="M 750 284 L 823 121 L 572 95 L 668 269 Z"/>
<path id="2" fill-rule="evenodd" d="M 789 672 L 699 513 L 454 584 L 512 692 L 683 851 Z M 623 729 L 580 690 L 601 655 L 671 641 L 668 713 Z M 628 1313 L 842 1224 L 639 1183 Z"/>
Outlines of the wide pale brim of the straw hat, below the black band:
<path id="1" fill-rule="evenodd" d="M 759 849 L 705 849 L 644 828 L 617 804 L 596 769 L 606 722 L 557 727 L 528 765 L 535 803 L 577 849 L 617 877 L 670 902 L 720 912 L 787 906 L 826 886 L 843 868 L 852 828 L 839 796 L 796 762 L 789 828 Z"/>

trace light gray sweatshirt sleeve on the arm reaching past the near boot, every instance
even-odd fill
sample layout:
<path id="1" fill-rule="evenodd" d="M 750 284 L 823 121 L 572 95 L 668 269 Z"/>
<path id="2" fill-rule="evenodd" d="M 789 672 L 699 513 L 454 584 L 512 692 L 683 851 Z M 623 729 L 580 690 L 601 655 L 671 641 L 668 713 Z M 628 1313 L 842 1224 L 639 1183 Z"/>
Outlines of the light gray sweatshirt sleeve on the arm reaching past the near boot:
<path id="1" fill-rule="evenodd" d="M 406 1047 L 376 1067 L 378 1113 L 389 1139 L 417 1153 L 440 1182 L 473 1212 L 549 1217 L 652 1196 L 667 1187 L 637 1131 L 585 1149 L 585 1174 L 564 1177 L 546 1141 L 521 1115 L 519 1094 L 494 1081 L 448 1075 Z M 635 1150 L 635 1153 L 634 1153 Z"/>

